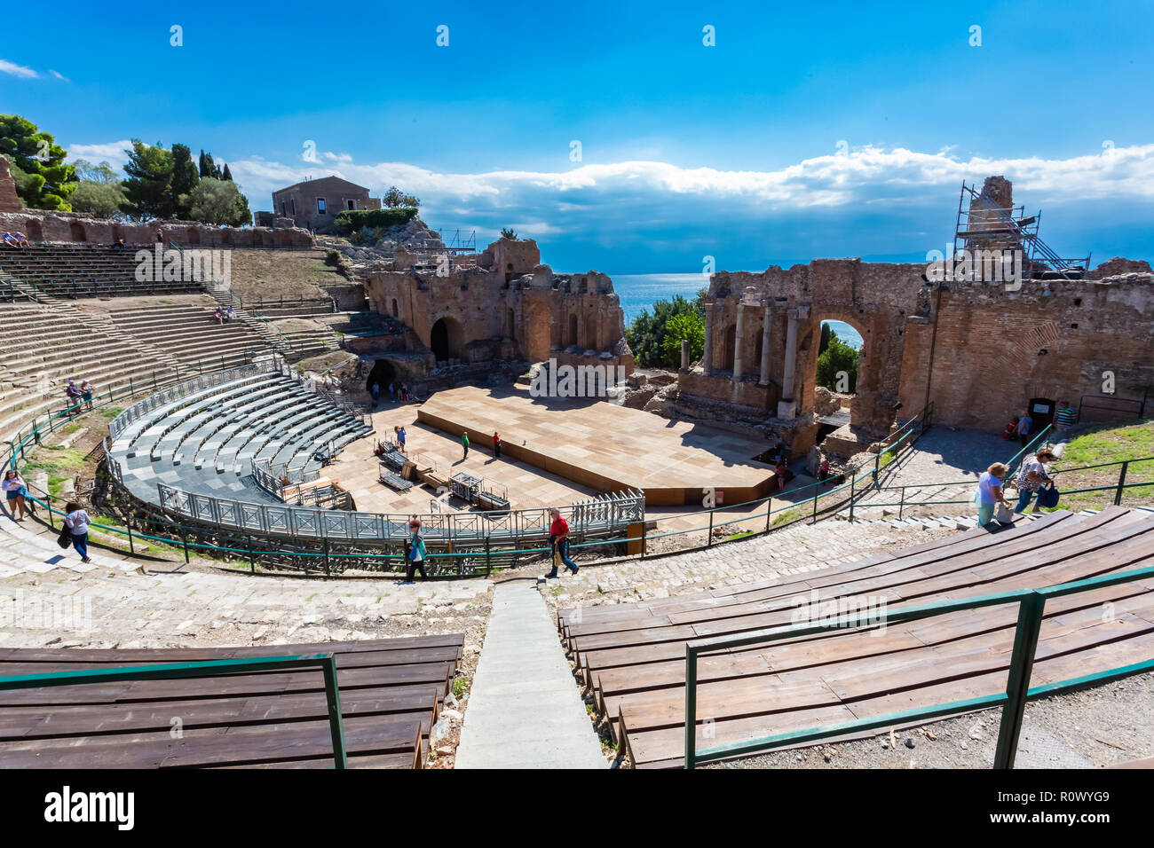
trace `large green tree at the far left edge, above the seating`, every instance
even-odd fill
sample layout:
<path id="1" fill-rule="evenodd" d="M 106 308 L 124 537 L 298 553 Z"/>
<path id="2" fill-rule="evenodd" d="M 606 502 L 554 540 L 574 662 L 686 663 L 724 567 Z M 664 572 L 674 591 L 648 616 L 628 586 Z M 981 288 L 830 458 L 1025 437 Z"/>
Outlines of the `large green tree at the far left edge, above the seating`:
<path id="1" fill-rule="evenodd" d="M 76 174 L 68 156 L 51 133 L 40 132 L 20 115 L 0 114 L 0 153 L 8 158 L 16 194 L 30 209 L 72 211 L 68 196 L 76 190 Z"/>

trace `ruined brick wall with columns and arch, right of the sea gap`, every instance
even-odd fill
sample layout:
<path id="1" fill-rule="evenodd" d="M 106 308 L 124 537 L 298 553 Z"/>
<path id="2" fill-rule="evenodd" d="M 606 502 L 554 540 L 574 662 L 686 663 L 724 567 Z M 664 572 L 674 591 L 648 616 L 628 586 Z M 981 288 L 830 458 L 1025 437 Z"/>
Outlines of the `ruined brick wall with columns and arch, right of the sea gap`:
<path id="1" fill-rule="evenodd" d="M 926 272 L 924 264 L 815 260 L 788 270 L 714 275 L 713 374 L 696 363 L 681 373 L 681 391 L 690 403 L 732 405 L 735 414 L 752 412 L 763 420 L 773 419 L 777 400 L 792 392 L 801 423 L 816 404 L 820 323 L 827 320 L 850 324 L 864 339 L 850 413 L 855 426 L 875 431 L 921 410 L 928 380 L 936 421 L 990 431 L 1001 431 L 1033 397 L 1077 407 L 1084 395 L 1102 393 L 1107 373 L 1117 398 L 1140 402 L 1154 389 L 1154 273 L 1146 262 L 1114 258 L 1085 280 L 1025 280 L 1019 291 L 1002 283 L 951 282 L 941 298 Z M 764 387 L 758 385 L 762 306 L 745 307 L 744 378 L 734 381 L 728 370 L 734 359 L 728 333 L 743 297 L 770 302 Z M 797 321 L 795 376 L 787 391 L 787 315 L 799 307 L 808 307 L 808 317 Z"/>

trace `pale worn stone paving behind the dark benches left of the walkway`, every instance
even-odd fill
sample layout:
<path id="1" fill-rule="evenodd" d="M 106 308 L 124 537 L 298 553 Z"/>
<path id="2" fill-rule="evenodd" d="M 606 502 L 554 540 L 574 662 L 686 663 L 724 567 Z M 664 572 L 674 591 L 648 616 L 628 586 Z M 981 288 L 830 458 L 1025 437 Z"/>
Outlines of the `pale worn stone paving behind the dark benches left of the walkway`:
<path id="1" fill-rule="evenodd" d="M 54 534 L 0 518 L 0 646 L 278 645 L 466 633 L 480 650 L 492 581 L 143 573 L 138 561 L 91 548 L 91 565 Z M 162 563 L 165 569 L 170 563 Z M 145 565 L 145 569 L 153 568 Z"/>

